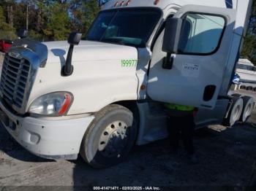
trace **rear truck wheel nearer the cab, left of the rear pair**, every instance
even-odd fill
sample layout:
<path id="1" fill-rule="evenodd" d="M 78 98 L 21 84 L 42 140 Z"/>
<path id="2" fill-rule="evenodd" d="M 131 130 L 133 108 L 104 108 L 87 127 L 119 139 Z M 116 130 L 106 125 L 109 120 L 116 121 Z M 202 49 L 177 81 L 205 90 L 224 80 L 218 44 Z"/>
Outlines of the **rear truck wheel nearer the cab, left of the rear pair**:
<path id="1" fill-rule="evenodd" d="M 238 120 L 240 120 L 241 113 L 243 112 L 244 101 L 242 98 L 234 96 L 232 98 L 232 105 L 227 118 L 223 120 L 223 125 L 232 127 Z"/>

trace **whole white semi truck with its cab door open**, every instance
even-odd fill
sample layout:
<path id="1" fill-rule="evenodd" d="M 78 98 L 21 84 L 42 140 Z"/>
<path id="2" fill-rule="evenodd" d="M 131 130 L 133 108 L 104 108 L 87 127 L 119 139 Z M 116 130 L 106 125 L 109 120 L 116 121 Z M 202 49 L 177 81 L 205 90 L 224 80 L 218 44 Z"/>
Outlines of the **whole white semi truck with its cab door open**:
<path id="1" fill-rule="evenodd" d="M 96 168 L 167 137 L 163 103 L 196 106 L 197 127 L 246 121 L 228 95 L 250 0 L 108 1 L 86 39 L 17 40 L 1 72 L 1 122 L 40 157 Z"/>

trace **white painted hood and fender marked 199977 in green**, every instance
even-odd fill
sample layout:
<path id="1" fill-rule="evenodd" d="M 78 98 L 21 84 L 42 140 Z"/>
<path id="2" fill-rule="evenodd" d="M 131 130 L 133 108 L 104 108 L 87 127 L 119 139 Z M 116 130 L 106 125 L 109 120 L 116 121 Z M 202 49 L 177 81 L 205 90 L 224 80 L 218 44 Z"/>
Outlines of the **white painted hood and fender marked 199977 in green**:
<path id="1" fill-rule="evenodd" d="M 48 62 L 37 73 L 27 111 L 40 95 L 56 91 L 74 95 L 68 114 L 98 112 L 113 102 L 138 98 L 136 67 L 121 66 L 122 59 L 138 60 L 135 47 L 82 41 L 75 47 L 72 56 L 74 73 L 61 77 L 61 66 L 64 66 L 69 44 L 45 44 L 48 46 Z"/>

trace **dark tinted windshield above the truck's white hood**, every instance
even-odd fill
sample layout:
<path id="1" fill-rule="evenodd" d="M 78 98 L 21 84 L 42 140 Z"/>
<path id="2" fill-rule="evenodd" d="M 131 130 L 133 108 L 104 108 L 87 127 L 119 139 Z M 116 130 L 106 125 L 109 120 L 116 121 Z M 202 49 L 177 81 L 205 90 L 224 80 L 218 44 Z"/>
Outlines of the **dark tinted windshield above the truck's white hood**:
<path id="1" fill-rule="evenodd" d="M 161 15 L 159 9 L 116 9 L 99 12 L 86 39 L 146 47 Z"/>

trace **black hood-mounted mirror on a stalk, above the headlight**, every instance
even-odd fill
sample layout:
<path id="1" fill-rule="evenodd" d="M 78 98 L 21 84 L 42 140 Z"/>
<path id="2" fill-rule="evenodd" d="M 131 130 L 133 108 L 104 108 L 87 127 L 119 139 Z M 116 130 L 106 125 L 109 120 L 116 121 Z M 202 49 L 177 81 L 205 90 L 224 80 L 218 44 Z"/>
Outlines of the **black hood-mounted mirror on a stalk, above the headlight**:
<path id="1" fill-rule="evenodd" d="M 71 34 L 69 34 L 69 39 L 67 40 L 67 42 L 70 44 L 69 52 L 67 52 L 65 66 L 61 70 L 61 74 L 64 77 L 69 77 L 74 71 L 74 67 L 72 66 L 72 54 L 74 46 L 79 44 L 81 38 L 82 34 L 80 33 L 72 32 Z"/>

